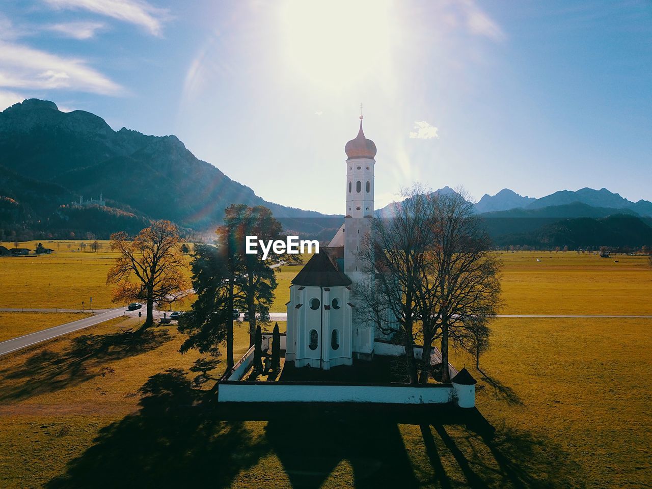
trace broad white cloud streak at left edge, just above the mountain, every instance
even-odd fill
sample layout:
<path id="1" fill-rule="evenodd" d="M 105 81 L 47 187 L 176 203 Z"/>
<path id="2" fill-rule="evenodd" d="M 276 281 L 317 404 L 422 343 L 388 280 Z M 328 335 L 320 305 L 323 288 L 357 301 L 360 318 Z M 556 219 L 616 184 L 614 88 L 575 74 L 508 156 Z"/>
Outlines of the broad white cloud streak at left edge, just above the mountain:
<path id="1" fill-rule="evenodd" d="M 117 95 L 123 87 L 88 67 L 82 59 L 64 58 L 0 40 L 0 87 L 69 89 Z"/>

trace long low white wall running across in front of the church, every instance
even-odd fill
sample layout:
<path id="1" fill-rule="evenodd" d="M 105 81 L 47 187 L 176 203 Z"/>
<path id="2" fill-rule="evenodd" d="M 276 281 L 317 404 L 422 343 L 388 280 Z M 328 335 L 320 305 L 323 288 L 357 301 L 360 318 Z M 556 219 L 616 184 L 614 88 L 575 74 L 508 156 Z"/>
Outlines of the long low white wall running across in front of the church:
<path id="1" fill-rule="evenodd" d="M 220 402 L 370 402 L 381 404 L 444 404 L 452 400 L 451 386 L 323 385 L 220 383 Z"/>

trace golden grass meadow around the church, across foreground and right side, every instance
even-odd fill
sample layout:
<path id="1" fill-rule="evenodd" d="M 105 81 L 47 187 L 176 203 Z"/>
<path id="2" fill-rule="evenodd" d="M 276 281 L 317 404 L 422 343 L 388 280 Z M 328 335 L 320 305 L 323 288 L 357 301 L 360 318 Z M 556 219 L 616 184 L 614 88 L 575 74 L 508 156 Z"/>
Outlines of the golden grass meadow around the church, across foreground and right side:
<path id="1" fill-rule="evenodd" d="M 645 257 L 500 258 L 505 314 L 652 314 Z M 273 311 L 300 268 L 277 270 Z M 0 485 L 652 486 L 652 319 L 496 319 L 481 370 L 452 353 L 478 380 L 480 424 L 436 408 L 416 420 L 321 406 L 230 419 L 211 392 L 223 358 L 207 370 L 178 353 L 173 326 L 140 337 L 133 326 L 118 318 L 0 357 Z M 236 323 L 235 357 L 246 349 Z M 297 445 L 306 435 L 321 441 Z"/>

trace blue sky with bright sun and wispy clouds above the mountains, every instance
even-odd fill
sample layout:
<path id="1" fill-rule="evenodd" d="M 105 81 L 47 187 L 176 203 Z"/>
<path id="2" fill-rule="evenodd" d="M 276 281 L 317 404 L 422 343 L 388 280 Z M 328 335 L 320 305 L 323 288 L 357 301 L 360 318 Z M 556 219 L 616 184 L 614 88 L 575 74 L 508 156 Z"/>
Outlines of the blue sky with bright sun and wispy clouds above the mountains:
<path id="1" fill-rule="evenodd" d="M 323 213 L 361 104 L 377 209 L 415 182 L 652 200 L 648 0 L 3 0 L 0 110 L 25 98 Z"/>

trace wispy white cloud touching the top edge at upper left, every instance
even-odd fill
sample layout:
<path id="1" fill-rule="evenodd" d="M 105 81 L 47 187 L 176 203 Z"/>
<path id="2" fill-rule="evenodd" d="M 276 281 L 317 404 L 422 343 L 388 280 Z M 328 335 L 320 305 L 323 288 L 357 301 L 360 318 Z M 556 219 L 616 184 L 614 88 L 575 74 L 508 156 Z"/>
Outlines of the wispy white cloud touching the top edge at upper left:
<path id="1" fill-rule="evenodd" d="M 156 8 L 142 0 L 44 0 L 54 8 L 89 10 L 95 14 L 111 17 L 144 27 L 160 36 L 163 22 L 168 20 L 168 10 Z"/>

